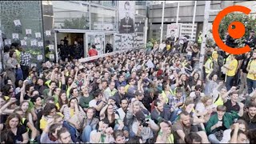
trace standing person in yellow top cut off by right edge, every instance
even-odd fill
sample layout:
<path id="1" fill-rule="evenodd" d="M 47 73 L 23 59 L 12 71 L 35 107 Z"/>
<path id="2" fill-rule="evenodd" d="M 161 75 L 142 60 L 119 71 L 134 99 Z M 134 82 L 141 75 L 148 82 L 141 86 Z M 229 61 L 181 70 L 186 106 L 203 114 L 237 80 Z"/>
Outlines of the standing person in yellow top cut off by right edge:
<path id="1" fill-rule="evenodd" d="M 256 50 L 254 50 L 252 58 L 247 66 L 247 86 L 248 94 L 253 92 L 253 89 L 256 89 Z"/>

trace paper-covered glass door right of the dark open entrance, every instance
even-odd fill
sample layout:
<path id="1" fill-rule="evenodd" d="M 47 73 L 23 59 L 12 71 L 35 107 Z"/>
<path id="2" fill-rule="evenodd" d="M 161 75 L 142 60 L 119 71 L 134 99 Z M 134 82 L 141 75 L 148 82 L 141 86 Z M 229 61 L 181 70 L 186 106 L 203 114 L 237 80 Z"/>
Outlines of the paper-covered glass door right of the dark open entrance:
<path id="1" fill-rule="evenodd" d="M 103 33 L 86 33 L 86 54 L 91 46 L 95 45 L 98 55 L 105 52 L 105 34 Z"/>

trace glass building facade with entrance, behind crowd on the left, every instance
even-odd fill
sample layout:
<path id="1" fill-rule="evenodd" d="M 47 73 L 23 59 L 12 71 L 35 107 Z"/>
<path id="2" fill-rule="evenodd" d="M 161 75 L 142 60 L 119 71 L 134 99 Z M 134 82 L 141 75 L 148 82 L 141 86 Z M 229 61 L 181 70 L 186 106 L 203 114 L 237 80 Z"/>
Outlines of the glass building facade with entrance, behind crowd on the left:
<path id="1" fill-rule="evenodd" d="M 146 1 L 134 3 L 136 11 L 132 13 L 135 15 L 132 37 L 134 40 L 143 40 Z M 118 1 L 1 1 L 0 30 L 3 39 L 22 41 L 23 44 L 25 41 L 26 46 L 23 47 L 33 54 L 35 63 L 38 62 L 38 54 L 45 58 L 46 46 L 49 45 L 54 45 L 52 52 L 57 56 L 56 47 L 61 38 L 70 38 L 74 34 L 80 34 L 79 37 L 83 39 L 86 57 L 86 51 L 94 44 L 95 38 L 102 41 L 102 53 L 106 42 L 110 42 L 114 50 L 122 49 L 116 48 L 120 43 L 118 38 L 122 38 L 118 32 L 118 11 Z M 21 25 L 15 26 L 15 22 Z M 31 34 L 26 34 L 26 29 L 30 29 Z M 41 38 L 38 38 L 38 33 Z M 18 34 L 18 38 L 15 34 Z M 70 44 L 73 41 L 70 38 Z M 5 43 L 4 40 L 2 44 L 8 44 L 8 41 Z M 138 45 L 134 42 L 133 46 Z"/>

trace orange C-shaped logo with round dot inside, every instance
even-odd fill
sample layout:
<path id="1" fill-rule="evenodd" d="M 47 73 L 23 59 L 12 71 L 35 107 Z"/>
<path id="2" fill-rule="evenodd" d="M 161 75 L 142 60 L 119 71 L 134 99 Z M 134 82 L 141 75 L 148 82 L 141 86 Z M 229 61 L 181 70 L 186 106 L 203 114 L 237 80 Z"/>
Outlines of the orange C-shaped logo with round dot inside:
<path id="1" fill-rule="evenodd" d="M 224 42 L 222 42 L 222 39 L 220 38 L 218 34 L 218 26 L 222 21 L 222 18 L 226 16 L 226 14 L 240 11 L 244 14 L 249 14 L 250 9 L 245 6 L 229 6 L 226 7 L 224 10 L 220 11 L 213 22 L 213 37 L 216 44 L 224 51 L 230 53 L 230 54 L 245 54 L 246 52 L 250 51 L 250 46 L 246 45 L 242 48 L 232 48 L 230 46 L 226 46 Z M 235 26 L 232 28 L 232 26 Z M 242 24 L 242 22 L 231 22 L 228 26 L 228 33 L 230 34 L 230 37 L 232 38 L 242 38 L 242 36 L 246 33 L 246 28 Z"/>

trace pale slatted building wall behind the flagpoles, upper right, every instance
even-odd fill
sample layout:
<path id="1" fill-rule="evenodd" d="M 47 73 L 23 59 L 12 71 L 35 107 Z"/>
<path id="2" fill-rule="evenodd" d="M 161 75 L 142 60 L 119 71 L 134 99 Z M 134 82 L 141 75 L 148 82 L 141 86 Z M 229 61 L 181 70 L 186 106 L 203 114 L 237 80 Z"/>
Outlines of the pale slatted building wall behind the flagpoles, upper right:
<path id="1" fill-rule="evenodd" d="M 227 6 L 240 5 L 247 6 L 251 9 L 250 14 L 256 15 L 256 2 L 255 1 L 211 1 L 211 10 L 221 10 Z M 178 3 L 166 3 L 165 14 L 164 14 L 164 25 L 163 25 L 163 38 L 166 38 L 166 26 L 167 24 L 175 23 L 177 17 Z M 202 23 L 204 17 L 205 2 L 197 1 L 197 10 L 195 16 L 195 22 L 197 23 L 197 36 L 198 32 L 202 31 Z M 194 14 L 194 2 L 180 2 L 178 22 L 179 23 L 192 23 Z M 209 22 L 213 22 L 218 12 L 211 12 Z M 160 39 L 161 33 L 161 22 L 162 22 L 162 4 L 156 3 L 151 5 L 149 10 L 149 38 Z"/>

